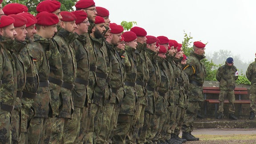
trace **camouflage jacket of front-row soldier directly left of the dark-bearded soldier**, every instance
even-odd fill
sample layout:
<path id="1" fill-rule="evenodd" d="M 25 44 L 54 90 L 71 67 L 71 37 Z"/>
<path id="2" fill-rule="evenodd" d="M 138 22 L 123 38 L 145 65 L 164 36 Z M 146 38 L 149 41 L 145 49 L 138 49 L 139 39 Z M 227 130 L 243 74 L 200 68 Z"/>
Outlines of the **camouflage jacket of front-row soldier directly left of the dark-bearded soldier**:
<path id="1" fill-rule="evenodd" d="M 85 106 L 87 91 L 86 87 L 89 84 L 89 56 L 86 48 L 86 40 L 84 35 L 79 35 L 72 43 L 76 52 L 77 75 L 75 88 L 72 91 L 76 107 L 83 108 Z"/>

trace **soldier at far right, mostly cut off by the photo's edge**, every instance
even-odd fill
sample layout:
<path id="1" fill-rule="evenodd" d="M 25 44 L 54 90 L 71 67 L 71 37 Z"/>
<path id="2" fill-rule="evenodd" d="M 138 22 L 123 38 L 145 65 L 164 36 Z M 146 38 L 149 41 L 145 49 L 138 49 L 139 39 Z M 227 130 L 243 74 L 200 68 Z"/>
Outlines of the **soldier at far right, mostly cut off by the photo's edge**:
<path id="1" fill-rule="evenodd" d="M 256 54 L 255 54 L 256 56 Z M 255 118 L 256 113 L 256 59 L 254 62 L 249 64 L 247 71 L 246 71 L 246 77 L 251 82 L 251 88 L 250 88 L 250 116 L 249 119 L 253 120 Z"/>

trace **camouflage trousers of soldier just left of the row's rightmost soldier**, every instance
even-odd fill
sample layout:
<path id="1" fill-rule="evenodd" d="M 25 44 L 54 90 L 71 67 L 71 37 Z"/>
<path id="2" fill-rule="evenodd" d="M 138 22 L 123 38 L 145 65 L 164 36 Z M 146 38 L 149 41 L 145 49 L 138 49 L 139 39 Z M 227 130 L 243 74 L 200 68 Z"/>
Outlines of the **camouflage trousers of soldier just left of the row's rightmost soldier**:
<path id="1" fill-rule="evenodd" d="M 176 120 L 175 120 L 175 128 L 174 128 L 174 135 L 178 135 L 180 134 L 180 128 L 183 124 L 184 121 L 184 115 L 185 115 L 186 109 L 185 108 L 181 108 L 178 107 L 177 108 L 177 113 L 176 113 Z"/>

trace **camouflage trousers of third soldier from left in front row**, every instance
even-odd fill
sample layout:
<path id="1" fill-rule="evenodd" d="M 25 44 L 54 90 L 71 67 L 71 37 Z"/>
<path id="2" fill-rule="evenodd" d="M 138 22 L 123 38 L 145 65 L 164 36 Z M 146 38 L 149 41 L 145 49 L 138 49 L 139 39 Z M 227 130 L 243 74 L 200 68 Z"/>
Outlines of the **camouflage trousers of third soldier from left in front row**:
<path id="1" fill-rule="evenodd" d="M 20 144 L 28 143 L 28 127 L 30 120 L 34 116 L 34 110 L 32 104 L 23 104 L 20 108 L 21 112 L 21 124 L 20 124 Z"/>

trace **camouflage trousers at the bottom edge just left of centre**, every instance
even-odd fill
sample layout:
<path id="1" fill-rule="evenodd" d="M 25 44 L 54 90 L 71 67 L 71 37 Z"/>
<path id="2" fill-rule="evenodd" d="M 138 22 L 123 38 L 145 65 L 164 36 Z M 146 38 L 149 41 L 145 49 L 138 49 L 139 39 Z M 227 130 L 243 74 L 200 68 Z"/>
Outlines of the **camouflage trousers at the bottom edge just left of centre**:
<path id="1" fill-rule="evenodd" d="M 112 144 L 125 144 L 125 138 L 132 125 L 133 116 L 119 114 L 116 129 L 114 129 Z"/>

